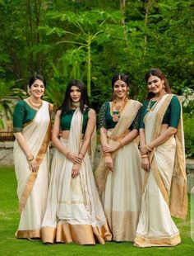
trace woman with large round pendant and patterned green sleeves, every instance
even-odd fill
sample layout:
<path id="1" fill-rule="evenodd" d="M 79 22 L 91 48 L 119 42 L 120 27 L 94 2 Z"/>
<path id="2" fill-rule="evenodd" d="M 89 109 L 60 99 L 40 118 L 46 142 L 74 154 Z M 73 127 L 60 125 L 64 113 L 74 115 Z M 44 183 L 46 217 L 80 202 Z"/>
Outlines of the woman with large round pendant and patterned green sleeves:
<path id="1" fill-rule="evenodd" d="M 99 112 L 102 154 L 95 181 L 114 241 L 134 241 L 141 206 L 141 158 L 136 145 L 141 103 L 127 98 L 125 74 L 112 79 L 113 101 Z"/>

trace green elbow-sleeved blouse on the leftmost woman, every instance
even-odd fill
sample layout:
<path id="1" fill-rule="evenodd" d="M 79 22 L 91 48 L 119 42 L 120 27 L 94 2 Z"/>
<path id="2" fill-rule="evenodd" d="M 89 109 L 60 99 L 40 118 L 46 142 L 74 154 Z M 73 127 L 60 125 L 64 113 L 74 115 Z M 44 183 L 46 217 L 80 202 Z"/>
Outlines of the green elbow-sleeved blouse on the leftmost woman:
<path id="1" fill-rule="evenodd" d="M 13 132 L 21 132 L 25 124 L 35 118 L 36 112 L 27 102 L 17 102 L 13 111 Z"/>

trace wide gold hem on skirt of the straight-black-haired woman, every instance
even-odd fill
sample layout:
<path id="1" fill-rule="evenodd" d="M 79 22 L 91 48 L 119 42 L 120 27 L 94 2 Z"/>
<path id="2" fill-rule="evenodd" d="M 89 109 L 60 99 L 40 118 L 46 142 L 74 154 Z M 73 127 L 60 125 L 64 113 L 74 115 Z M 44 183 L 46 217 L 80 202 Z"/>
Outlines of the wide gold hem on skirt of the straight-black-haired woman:
<path id="1" fill-rule="evenodd" d="M 106 223 L 101 227 L 91 225 L 71 225 L 69 223 L 59 223 L 56 228 L 45 226 L 41 228 L 43 243 L 72 243 L 76 244 L 104 244 L 105 240 L 111 240 L 112 235 L 109 225 Z"/>

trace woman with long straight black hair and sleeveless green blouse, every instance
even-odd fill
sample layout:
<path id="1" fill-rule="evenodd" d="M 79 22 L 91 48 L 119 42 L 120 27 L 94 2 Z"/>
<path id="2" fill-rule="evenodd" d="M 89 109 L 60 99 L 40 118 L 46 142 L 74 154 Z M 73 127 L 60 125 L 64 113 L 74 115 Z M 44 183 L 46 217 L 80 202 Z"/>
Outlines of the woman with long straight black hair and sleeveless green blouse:
<path id="1" fill-rule="evenodd" d="M 53 126 L 56 150 L 41 229 L 44 243 L 104 244 L 112 238 L 92 173 L 89 147 L 95 142 L 96 116 L 88 106 L 84 84 L 70 81 Z"/>

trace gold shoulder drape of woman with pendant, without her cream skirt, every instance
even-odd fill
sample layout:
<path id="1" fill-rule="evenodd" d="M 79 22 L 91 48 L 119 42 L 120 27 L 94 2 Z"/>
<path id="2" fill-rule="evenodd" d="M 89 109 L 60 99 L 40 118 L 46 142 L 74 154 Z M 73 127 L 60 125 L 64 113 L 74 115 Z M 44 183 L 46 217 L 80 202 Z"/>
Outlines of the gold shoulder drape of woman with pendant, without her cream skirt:
<path id="1" fill-rule="evenodd" d="M 141 107 L 141 102 L 134 100 L 128 100 L 126 106 L 124 107 L 122 114 L 118 120 L 117 125 L 113 128 L 111 135 L 109 137 L 120 137 L 126 130 L 132 125 L 132 121 L 135 119 L 137 112 Z M 133 110 L 133 111 L 132 111 Z M 128 118 L 125 118 L 125 115 L 128 113 Z M 119 150 L 119 149 L 118 149 Z M 115 159 L 118 152 L 113 152 L 112 157 Z M 106 180 L 109 174 L 109 168 L 105 167 L 104 154 L 100 152 L 99 166 L 95 170 L 95 184 L 99 192 L 99 197 L 102 198 L 104 192 L 104 187 Z"/>

